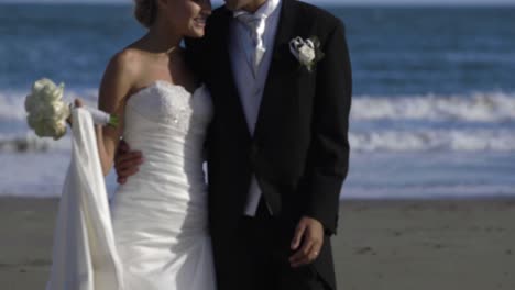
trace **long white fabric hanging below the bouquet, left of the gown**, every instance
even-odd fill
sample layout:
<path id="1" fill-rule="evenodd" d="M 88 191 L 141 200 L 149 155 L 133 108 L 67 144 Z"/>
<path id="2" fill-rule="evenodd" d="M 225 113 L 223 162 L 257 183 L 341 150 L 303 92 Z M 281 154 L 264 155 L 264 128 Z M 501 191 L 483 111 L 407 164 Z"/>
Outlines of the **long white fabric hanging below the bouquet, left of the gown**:
<path id="1" fill-rule="evenodd" d="M 73 111 L 72 146 L 46 290 L 123 289 L 94 123 L 80 108 Z"/>

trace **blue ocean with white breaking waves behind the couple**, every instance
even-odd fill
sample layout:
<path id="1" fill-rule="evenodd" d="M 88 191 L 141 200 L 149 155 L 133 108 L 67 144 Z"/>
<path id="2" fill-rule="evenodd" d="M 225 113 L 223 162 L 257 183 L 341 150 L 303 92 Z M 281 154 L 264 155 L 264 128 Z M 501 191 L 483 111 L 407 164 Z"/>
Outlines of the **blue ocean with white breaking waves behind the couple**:
<path id="1" fill-rule="evenodd" d="M 326 9 L 354 77 L 342 198 L 515 197 L 515 8 Z M 0 196 L 58 196 L 69 163 L 69 138 L 25 124 L 31 83 L 95 105 L 110 56 L 143 33 L 130 5 L 0 4 Z"/>

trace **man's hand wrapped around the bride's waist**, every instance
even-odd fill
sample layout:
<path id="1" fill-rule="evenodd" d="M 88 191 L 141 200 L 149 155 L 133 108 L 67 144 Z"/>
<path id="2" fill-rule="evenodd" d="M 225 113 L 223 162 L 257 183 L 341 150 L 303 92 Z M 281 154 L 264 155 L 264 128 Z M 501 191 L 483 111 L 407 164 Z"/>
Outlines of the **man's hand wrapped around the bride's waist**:
<path id="1" fill-rule="evenodd" d="M 118 183 L 125 183 L 130 176 L 138 172 L 142 163 L 143 157 L 141 152 L 131 152 L 129 144 L 123 140 L 120 141 L 114 156 L 114 169 L 117 170 Z"/>

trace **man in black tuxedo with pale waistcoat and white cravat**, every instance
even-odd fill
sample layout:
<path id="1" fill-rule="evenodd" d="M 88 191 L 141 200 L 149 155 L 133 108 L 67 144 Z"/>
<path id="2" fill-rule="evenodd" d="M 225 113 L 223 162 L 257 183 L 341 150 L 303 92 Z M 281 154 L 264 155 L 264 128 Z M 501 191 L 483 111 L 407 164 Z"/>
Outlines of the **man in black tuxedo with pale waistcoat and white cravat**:
<path id="1" fill-rule="evenodd" d="M 224 1 L 206 36 L 187 42 L 215 105 L 207 152 L 218 289 L 336 289 L 330 236 L 351 105 L 342 23 L 296 0 Z M 133 170 L 138 158 L 118 158 L 121 182 L 130 174 L 119 168 Z"/>

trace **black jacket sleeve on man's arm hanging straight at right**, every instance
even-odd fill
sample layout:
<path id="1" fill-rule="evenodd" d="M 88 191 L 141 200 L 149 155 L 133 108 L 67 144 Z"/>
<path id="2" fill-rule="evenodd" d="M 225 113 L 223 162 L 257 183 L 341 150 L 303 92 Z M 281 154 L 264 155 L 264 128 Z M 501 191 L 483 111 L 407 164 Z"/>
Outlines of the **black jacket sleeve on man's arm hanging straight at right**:
<path id="1" fill-rule="evenodd" d="M 307 215 L 335 234 L 341 186 L 349 168 L 349 112 L 352 76 L 343 24 L 338 24 L 321 45 L 325 57 L 317 64 L 311 144 L 307 165 Z"/>

